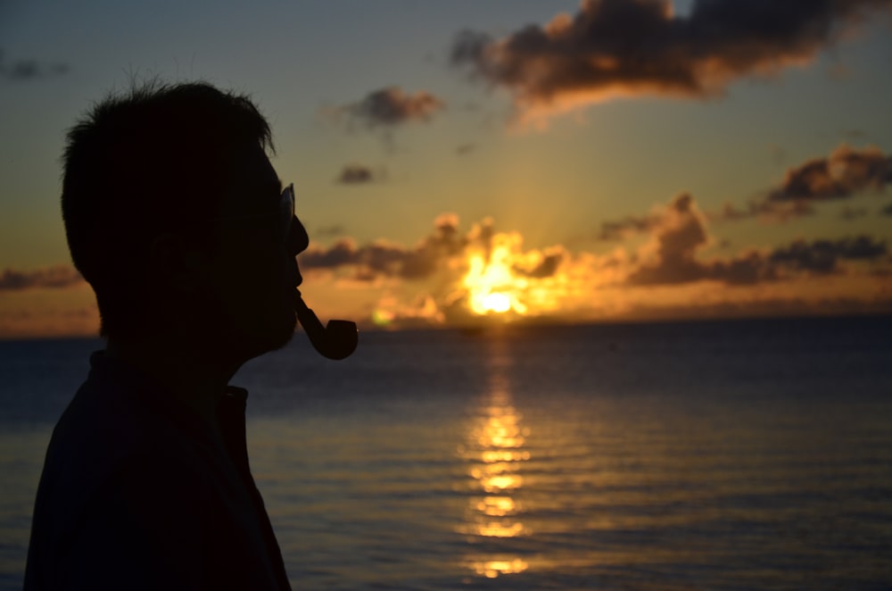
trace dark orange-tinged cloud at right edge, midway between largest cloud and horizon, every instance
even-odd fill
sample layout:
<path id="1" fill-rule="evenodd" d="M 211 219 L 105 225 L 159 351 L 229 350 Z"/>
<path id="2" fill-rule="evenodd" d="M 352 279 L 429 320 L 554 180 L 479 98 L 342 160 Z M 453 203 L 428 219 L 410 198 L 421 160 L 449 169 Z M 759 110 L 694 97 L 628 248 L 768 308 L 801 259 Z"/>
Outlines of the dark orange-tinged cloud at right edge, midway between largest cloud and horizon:
<path id="1" fill-rule="evenodd" d="M 780 187 L 766 197 L 769 203 L 817 202 L 846 199 L 866 190 L 882 190 L 892 183 L 892 157 L 878 148 L 839 146 L 827 158 L 814 158 L 791 168 Z"/>

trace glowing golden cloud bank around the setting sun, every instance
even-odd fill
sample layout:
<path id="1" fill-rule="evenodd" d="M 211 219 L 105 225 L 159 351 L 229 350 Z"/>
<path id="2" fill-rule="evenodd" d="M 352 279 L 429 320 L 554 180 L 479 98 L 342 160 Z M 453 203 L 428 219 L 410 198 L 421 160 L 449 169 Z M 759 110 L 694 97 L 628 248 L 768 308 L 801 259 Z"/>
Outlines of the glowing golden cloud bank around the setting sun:
<path id="1" fill-rule="evenodd" d="M 327 271 L 316 280 L 376 290 L 371 319 L 403 327 L 475 322 L 481 317 L 471 312 L 470 303 L 493 293 L 509 298 L 512 310 L 523 311 L 524 317 L 541 318 L 558 310 L 571 286 L 582 293 L 582 283 L 607 280 L 593 279 L 592 273 L 603 269 L 605 278 L 615 273 L 608 268 L 614 263 L 609 256 L 574 259 L 560 245 L 524 249 L 519 233 L 497 231 L 489 218 L 463 231 L 451 213 L 439 216 L 433 231 L 415 246 L 384 240 L 357 246 L 343 240 L 327 248 L 310 246 L 298 262 L 308 277 Z"/>

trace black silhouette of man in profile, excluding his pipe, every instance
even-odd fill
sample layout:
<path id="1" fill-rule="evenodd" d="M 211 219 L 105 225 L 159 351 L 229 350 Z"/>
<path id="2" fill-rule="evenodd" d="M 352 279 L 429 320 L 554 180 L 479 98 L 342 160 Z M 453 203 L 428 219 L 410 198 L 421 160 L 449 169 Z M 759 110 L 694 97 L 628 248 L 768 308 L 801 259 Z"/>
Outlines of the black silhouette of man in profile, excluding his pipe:
<path id="1" fill-rule="evenodd" d="M 53 432 L 27 590 L 288 588 L 227 386 L 295 328 L 308 238 L 268 149 L 254 104 L 202 83 L 70 129 L 62 214 L 106 347 Z"/>

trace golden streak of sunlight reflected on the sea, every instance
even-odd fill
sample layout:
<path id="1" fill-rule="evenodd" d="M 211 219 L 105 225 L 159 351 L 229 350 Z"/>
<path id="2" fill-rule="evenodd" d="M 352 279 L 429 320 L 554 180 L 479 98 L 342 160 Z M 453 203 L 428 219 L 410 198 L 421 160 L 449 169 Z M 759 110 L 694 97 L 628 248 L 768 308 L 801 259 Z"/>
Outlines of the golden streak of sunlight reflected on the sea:
<path id="1" fill-rule="evenodd" d="M 531 531 L 520 517 L 524 506 L 518 499 L 524 486 L 521 471 L 530 460 L 524 449 L 530 430 L 522 424 L 511 399 L 506 367 L 511 359 L 504 343 L 494 344 L 490 361 L 490 391 L 468 429 L 464 457 L 470 463 L 468 475 L 482 495 L 471 499 L 467 524 L 462 529 L 472 544 L 484 540 L 505 540 L 529 536 Z M 507 549 L 507 548 L 506 548 Z M 505 552 L 475 554 L 467 564 L 478 575 L 494 579 L 523 572 L 529 565 L 523 558 Z"/>

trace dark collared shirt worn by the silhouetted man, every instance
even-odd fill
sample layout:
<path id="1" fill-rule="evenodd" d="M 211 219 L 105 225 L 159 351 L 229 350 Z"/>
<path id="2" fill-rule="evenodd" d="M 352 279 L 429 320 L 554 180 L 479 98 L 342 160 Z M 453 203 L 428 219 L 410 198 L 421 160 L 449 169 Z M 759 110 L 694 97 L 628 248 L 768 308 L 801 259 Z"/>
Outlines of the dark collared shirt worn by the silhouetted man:
<path id="1" fill-rule="evenodd" d="M 287 589 L 248 467 L 247 392 L 222 439 L 164 387 L 102 352 L 46 452 L 25 590 Z"/>

